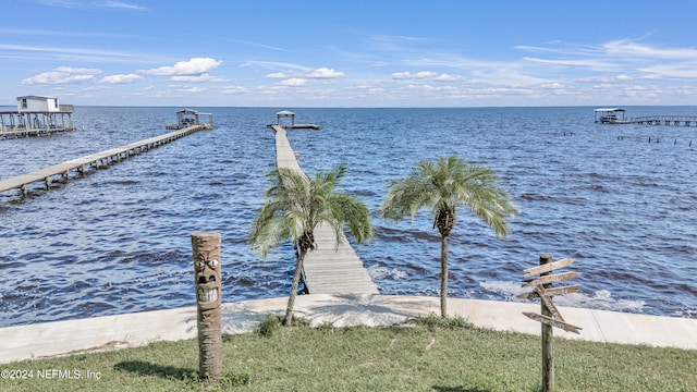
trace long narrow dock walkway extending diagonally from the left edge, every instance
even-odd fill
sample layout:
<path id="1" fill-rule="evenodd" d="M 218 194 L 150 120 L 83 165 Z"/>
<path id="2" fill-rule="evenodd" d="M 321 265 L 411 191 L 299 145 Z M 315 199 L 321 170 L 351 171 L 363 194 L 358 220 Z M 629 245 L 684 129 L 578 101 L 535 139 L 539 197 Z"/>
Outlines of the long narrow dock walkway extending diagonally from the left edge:
<path id="1" fill-rule="evenodd" d="M 0 193 L 10 189 L 22 189 L 22 193 L 26 195 L 27 185 L 39 181 L 42 181 L 46 188 L 50 189 L 52 177 L 54 176 L 60 176 L 61 179 L 66 180 L 70 177 L 71 171 L 73 170 L 77 171 L 80 174 L 84 174 L 89 167 L 99 168 L 101 166 L 108 166 L 112 162 L 121 162 L 122 159 L 129 158 L 133 155 L 137 155 L 155 147 L 159 147 L 172 140 L 176 140 L 203 128 L 204 125 L 189 126 L 176 132 L 170 132 L 164 135 L 150 137 L 145 140 L 131 143 L 121 147 L 115 147 L 105 151 L 69 160 L 63 163 L 53 164 L 51 167 L 44 168 L 27 174 L 0 180 Z"/>

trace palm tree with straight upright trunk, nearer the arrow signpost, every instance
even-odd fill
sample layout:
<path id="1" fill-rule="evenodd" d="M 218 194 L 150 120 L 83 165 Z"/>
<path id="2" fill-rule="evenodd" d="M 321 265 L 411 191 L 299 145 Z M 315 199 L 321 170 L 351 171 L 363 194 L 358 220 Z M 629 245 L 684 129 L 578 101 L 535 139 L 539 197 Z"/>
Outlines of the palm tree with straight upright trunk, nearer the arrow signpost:
<path id="1" fill-rule="evenodd" d="M 509 226 L 505 216 L 517 212 L 515 205 L 497 184 L 496 173 L 481 166 L 460 160 L 455 156 L 438 158 L 436 162 L 419 161 L 405 179 L 390 182 L 388 195 L 379 215 L 399 221 L 407 213 L 412 219 L 421 209 L 433 213 L 433 229 L 441 235 L 440 313 L 448 315 L 448 237 L 456 222 L 457 206 L 466 206 L 497 236 L 505 237 Z"/>

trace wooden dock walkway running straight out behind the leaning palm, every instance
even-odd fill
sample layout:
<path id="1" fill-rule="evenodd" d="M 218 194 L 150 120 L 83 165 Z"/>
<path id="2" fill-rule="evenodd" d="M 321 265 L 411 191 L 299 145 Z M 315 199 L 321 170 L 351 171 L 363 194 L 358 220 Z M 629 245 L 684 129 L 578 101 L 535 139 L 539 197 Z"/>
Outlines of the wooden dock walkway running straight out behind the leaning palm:
<path id="1" fill-rule="evenodd" d="M 271 125 L 276 132 L 276 158 L 279 168 L 303 172 L 285 130 Z M 315 229 L 317 249 L 309 252 L 303 262 L 305 286 L 310 294 L 378 294 L 368 270 L 348 244 L 337 245 L 328 226 Z"/>

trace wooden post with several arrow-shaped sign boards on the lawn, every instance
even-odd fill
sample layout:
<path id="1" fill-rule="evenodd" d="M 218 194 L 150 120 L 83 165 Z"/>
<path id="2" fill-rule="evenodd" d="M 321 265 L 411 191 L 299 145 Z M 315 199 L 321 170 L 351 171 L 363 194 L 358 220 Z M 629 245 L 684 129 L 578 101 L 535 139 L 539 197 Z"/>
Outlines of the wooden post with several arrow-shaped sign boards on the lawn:
<path id="1" fill-rule="evenodd" d="M 578 292 L 578 285 L 567 285 L 562 287 L 552 287 L 553 282 L 563 282 L 580 275 L 580 272 L 563 272 L 554 274 L 553 271 L 560 268 L 568 267 L 574 259 L 562 259 L 552 261 L 551 255 L 540 255 L 540 265 L 524 270 L 523 279 L 529 279 L 535 275 L 538 278 L 529 279 L 523 284 L 523 287 L 535 287 L 529 293 L 518 295 L 518 298 L 539 297 L 541 303 L 541 315 L 530 311 L 524 311 L 526 317 L 541 322 L 542 326 L 542 392 L 554 391 L 554 356 L 553 356 L 553 328 L 561 328 L 567 332 L 579 333 L 579 327 L 572 326 L 564 321 L 564 318 L 554 306 L 552 296 L 563 295 Z"/>

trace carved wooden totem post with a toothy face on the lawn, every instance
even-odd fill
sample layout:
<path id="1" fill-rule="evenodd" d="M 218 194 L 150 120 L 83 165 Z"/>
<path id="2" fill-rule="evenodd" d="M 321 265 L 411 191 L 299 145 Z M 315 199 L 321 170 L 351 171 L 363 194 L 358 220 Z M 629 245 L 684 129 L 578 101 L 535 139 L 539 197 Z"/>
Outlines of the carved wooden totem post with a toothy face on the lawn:
<path id="1" fill-rule="evenodd" d="M 198 314 L 198 377 L 217 379 L 222 372 L 220 234 L 192 234 L 192 249 Z"/>

